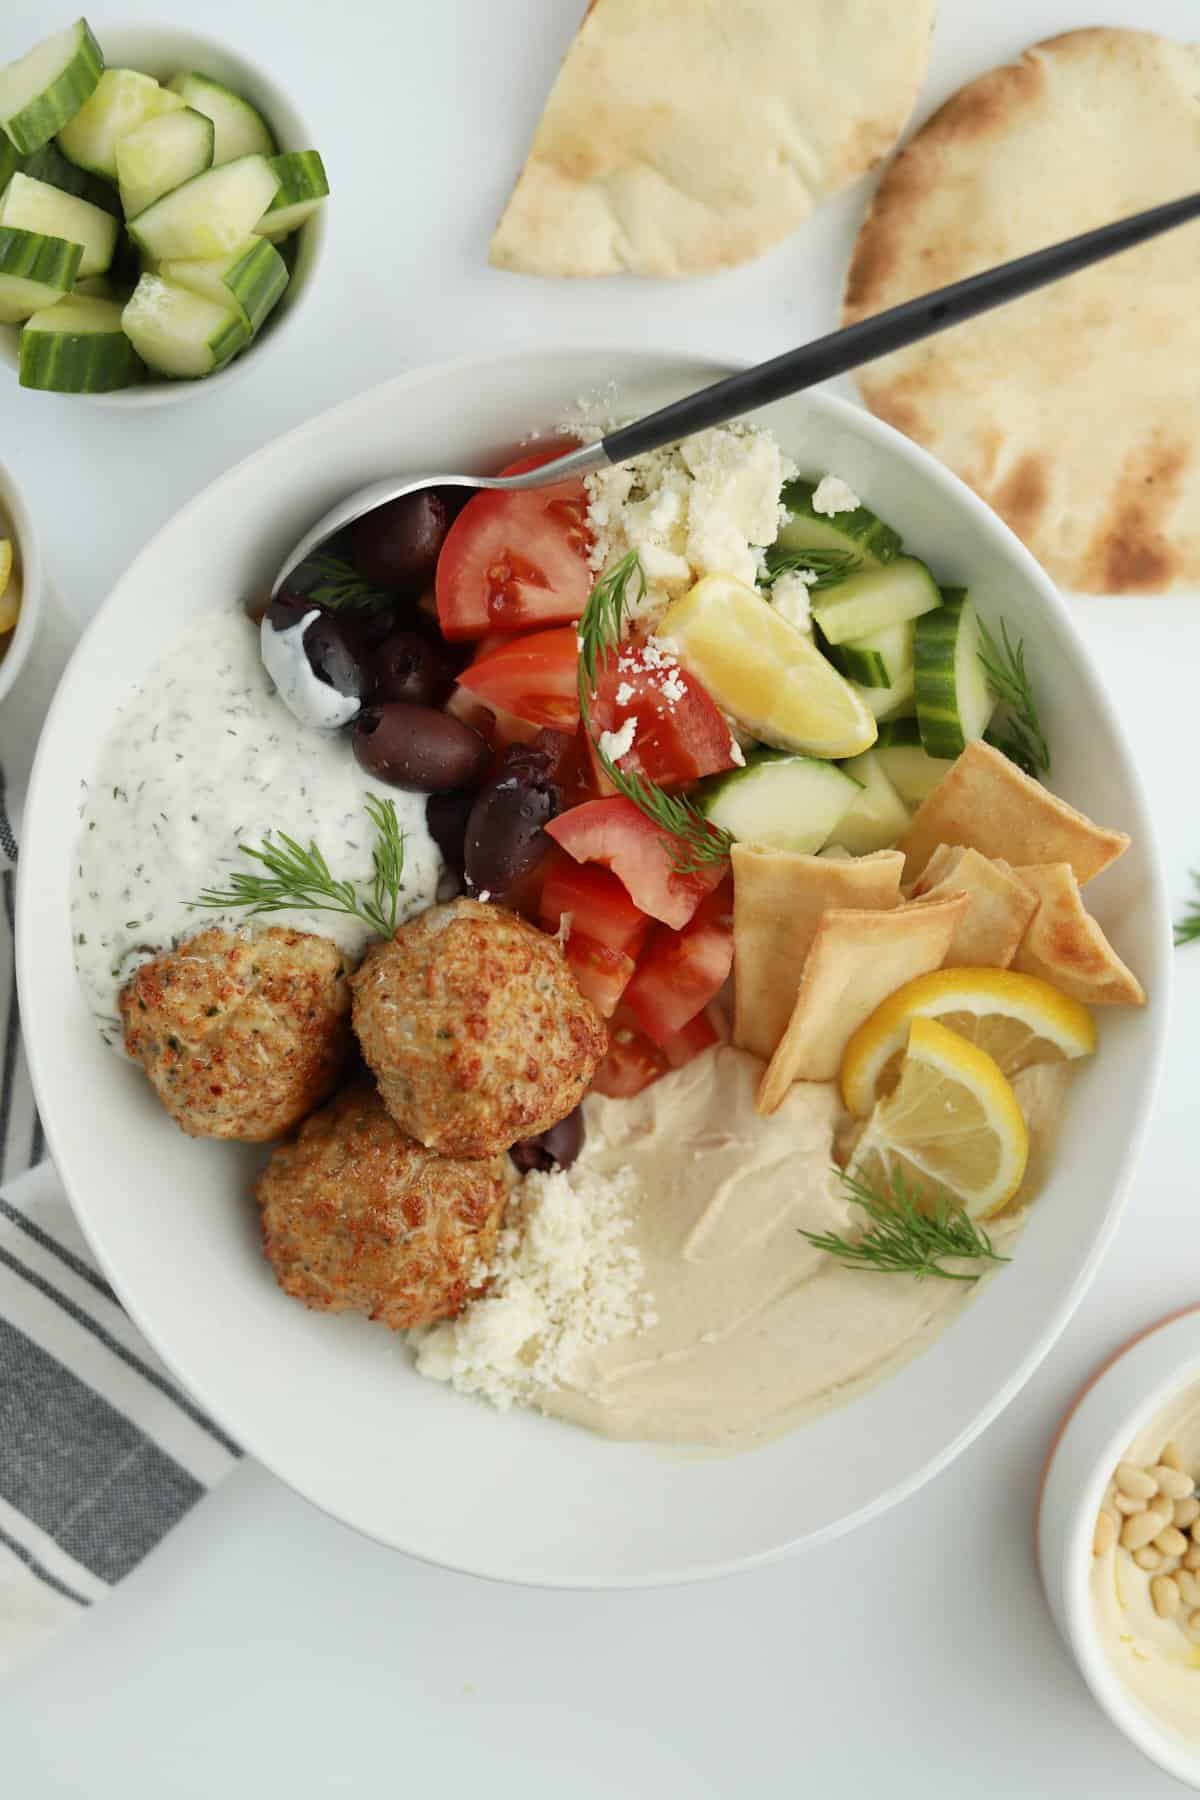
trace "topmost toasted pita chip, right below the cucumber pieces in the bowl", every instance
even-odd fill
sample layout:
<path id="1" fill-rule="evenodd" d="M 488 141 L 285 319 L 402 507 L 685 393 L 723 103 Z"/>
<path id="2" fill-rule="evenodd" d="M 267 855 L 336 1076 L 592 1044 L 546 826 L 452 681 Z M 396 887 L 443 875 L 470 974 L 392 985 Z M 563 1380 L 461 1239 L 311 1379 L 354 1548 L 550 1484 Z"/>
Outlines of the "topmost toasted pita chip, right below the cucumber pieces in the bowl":
<path id="1" fill-rule="evenodd" d="M 1130 841 L 1092 824 L 981 738 L 912 815 L 900 842 L 909 880 L 925 871 L 939 844 L 963 844 L 1011 864 L 1069 862 L 1079 882 L 1090 882 Z"/>

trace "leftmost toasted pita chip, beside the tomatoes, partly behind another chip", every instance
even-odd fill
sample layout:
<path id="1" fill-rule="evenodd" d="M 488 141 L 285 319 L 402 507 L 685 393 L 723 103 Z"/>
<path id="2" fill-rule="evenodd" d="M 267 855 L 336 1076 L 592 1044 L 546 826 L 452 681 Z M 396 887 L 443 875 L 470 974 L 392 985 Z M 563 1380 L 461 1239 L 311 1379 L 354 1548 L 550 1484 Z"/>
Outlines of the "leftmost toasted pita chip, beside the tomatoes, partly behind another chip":
<path id="1" fill-rule="evenodd" d="M 766 1060 L 783 1037 L 804 959 L 829 907 L 892 907 L 898 850 L 873 857 L 802 857 L 734 844 L 734 1044 Z"/>

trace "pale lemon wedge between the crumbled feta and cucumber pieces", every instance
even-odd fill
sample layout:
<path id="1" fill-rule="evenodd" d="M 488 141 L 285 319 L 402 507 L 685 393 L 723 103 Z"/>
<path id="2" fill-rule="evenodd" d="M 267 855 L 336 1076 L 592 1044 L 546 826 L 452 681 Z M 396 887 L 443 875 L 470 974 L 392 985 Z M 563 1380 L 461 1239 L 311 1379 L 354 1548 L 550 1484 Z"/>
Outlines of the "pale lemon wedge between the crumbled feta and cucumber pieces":
<path id="1" fill-rule="evenodd" d="M 666 612 L 658 635 L 720 707 L 763 743 L 858 756 L 876 724 L 811 637 L 729 574 L 707 574 Z"/>

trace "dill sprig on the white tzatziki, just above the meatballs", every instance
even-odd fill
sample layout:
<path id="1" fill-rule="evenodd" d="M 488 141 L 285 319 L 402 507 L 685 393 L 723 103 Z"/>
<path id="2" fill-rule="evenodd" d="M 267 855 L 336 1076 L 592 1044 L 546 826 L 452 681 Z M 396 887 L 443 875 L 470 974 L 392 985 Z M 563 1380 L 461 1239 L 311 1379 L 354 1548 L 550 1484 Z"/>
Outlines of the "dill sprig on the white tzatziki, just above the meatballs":
<path id="1" fill-rule="evenodd" d="M 250 913 L 286 913 L 291 907 L 311 913 L 349 913 L 392 938 L 399 925 L 399 891 L 405 873 L 405 833 L 396 819 L 396 801 L 367 796 L 367 817 L 376 828 L 371 850 L 374 878 L 371 891 L 362 893 L 356 882 L 335 880 L 329 864 L 309 842 L 308 850 L 286 832 L 268 832 L 259 848 L 239 844 L 243 857 L 252 857 L 266 871 L 261 875 L 234 869 L 228 887 L 205 887 L 193 907 L 239 907 Z"/>

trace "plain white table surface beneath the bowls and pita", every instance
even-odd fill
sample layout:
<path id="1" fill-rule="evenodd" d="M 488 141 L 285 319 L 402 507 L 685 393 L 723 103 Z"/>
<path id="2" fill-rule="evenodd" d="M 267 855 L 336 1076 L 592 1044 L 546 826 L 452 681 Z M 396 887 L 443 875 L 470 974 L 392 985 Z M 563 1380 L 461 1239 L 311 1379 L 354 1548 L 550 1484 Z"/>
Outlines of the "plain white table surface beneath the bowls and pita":
<path id="1" fill-rule="evenodd" d="M 81 619 L 200 486 L 408 364 L 542 342 L 765 356 L 829 328 L 862 191 L 709 281 L 554 284 L 486 266 L 578 13 L 579 0 L 130 0 L 130 18 L 194 22 L 266 63 L 318 121 L 335 196 L 318 292 L 279 360 L 228 400 L 122 416 L 0 387 L 0 454 Z M 919 117 L 1038 36 L 1200 23 L 1196 0 L 943 0 L 941 13 Z M 50 16 L 47 0 L 5 0 L 0 54 Z M 104 14 L 92 22 L 103 40 Z M 1200 607 L 1079 601 L 1078 616 L 1182 895 L 1200 864 Z M 1177 1793 L 1061 1651 L 1031 1532 L 1038 1469 L 1079 1382 L 1133 1328 L 1198 1298 L 1200 949 L 1178 958 L 1173 1030 L 1124 1224 L 1072 1325 L 984 1438 L 869 1534 L 720 1584 L 536 1593 L 380 1550 L 243 1467 L 0 1692 L 0 1793 Z"/>

